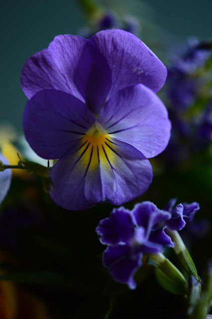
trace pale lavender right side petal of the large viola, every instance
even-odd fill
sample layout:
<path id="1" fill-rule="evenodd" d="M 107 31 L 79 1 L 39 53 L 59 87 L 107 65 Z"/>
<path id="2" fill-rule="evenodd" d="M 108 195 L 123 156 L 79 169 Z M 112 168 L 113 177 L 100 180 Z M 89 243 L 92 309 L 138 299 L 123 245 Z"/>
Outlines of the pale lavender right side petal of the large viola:
<path id="1" fill-rule="evenodd" d="M 97 121 L 109 136 L 134 146 L 146 158 L 164 151 L 170 139 L 171 122 L 164 104 L 142 84 L 116 93 Z"/>

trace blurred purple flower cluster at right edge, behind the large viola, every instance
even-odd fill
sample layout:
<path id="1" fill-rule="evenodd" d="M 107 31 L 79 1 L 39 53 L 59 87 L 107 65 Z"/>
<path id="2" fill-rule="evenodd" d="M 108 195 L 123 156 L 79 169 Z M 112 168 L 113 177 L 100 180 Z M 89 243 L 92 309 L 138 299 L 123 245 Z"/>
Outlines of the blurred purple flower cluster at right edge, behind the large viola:
<path id="1" fill-rule="evenodd" d="M 170 167 L 212 143 L 211 59 L 210 42 L 192 39 L 168 68 L 172 136 L 162 157 Z"/>

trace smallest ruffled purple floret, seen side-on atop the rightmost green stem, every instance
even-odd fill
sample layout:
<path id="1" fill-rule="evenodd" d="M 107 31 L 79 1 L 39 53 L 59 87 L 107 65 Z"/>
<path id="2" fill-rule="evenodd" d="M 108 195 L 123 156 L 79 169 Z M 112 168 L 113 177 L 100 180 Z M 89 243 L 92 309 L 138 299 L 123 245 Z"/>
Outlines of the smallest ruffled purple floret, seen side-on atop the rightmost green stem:
<path id="1" fill-rule="evenodd" d="M 164 207 L 164 210 L 172 214 L 172 217 L 166 222 L 166 226 L 171 230 L 181 230 L 186 223 L 193 220 L 195 213 L 200 209 L 197 202 L 182 203 L 175 206 L 176 201 L 176 198 L 172 198 Z"/>

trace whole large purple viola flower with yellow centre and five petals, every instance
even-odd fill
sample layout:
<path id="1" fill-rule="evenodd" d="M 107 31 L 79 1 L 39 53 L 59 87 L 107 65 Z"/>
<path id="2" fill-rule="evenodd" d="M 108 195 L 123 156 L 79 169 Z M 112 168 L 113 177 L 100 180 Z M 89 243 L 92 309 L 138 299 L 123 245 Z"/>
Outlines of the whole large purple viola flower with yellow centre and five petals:
<path id="1" fill-rule="evenodd" d="M 165 66 L 149 48 L 117 29 L 89 40 L 56 36 L 26 61 L 24 133 L 40 157 L 59 159 L 50 193 L 58 205 L 119 205 L 148 188 L 147 158 L 170 138 L 167 110 L 155 95 L 165 79 Z"/>

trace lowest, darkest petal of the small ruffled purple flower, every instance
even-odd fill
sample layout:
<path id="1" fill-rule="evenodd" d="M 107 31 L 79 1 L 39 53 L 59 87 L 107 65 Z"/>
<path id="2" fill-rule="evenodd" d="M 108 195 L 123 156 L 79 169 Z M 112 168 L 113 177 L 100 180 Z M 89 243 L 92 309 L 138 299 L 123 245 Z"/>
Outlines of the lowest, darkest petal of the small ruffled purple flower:
<path id="1" fill-rule="evenodd" d="M 135 289 L 133 276 L 142 265 L 142 254 L 131 255 L 130 250 L 126 245 L 107 247 L 103 253 L 103 265 L 115 281 L 127 284 L 129 289 Z"/>

